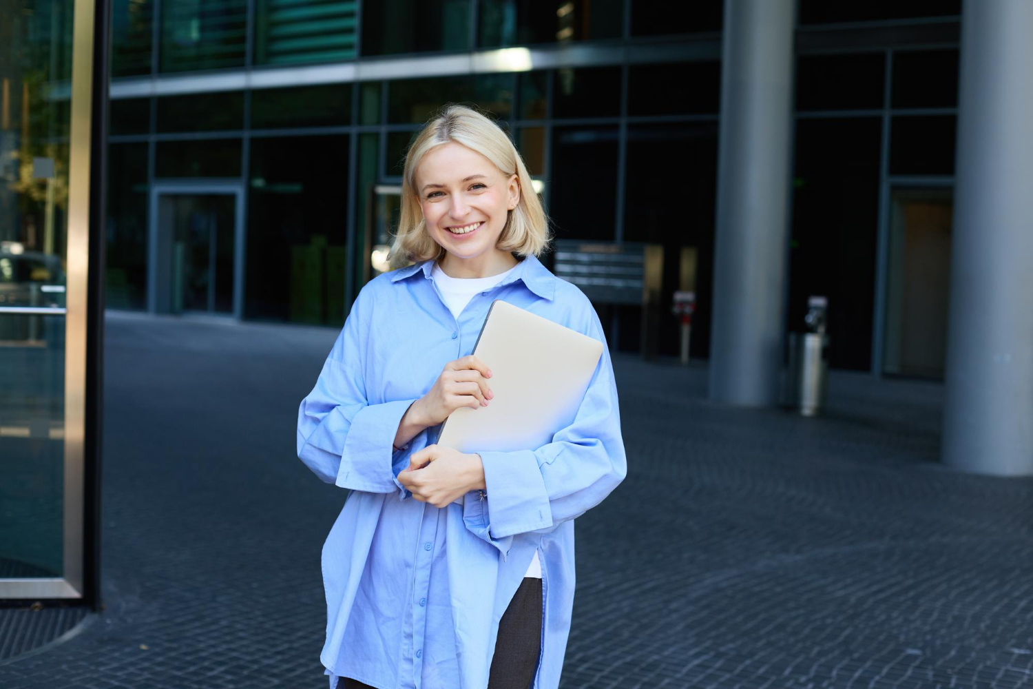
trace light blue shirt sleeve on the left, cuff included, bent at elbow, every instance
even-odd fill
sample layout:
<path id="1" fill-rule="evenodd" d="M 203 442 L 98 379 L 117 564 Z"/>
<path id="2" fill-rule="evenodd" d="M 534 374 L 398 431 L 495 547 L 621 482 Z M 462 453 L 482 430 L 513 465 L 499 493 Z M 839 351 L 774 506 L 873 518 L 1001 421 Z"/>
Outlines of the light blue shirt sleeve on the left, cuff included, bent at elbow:
<path id="1" fill-rule="evenodd" d="M 323 363 L 315 387 L 298 410 L 298 457 L 327 483 L 353 491 L 400 490 L 393 465 L 412 446 L 396 450 L 398 425 L 414 400 L 369 404 L 363 379 L 368 322 L 359 294 Z"/>

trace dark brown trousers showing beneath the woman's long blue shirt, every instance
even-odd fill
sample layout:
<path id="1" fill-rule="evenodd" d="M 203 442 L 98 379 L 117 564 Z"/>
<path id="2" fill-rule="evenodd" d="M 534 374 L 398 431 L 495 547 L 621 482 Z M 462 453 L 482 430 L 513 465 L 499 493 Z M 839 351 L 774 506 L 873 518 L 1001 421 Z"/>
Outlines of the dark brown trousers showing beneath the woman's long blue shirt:
<path id="1" fill-rule="evenodd" d="M 488 689 L 528 689 L 541 651 L 541 580 L 527 576 L 499 621 Z M 344 689 L 373 689 L 342 678 Z"/>

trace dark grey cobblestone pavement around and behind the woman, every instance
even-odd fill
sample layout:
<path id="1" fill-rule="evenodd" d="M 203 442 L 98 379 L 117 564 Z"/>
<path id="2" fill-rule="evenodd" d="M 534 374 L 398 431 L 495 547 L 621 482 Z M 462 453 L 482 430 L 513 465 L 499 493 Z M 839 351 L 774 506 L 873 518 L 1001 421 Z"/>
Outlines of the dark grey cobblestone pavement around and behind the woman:
<path id="1" fill-rule="evenodd" d="M 324 687 L 344 495 L 294 418 L 336 332 L 107 325 L 107 608 L 0 687 Z M 936 463 L 940 385 L 834 374 L 805 419 L 616 369 L 629 473 L 577 520 L 563 689 L 1033 687 L 1033 479 Z"/>

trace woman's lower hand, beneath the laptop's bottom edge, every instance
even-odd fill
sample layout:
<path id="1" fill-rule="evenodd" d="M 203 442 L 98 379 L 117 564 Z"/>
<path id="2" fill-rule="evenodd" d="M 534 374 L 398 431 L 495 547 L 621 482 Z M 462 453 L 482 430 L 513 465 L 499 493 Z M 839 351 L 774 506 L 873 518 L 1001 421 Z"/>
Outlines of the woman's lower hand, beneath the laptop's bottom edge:
<path id="1" fill-rule="evenodd" d="M 398 481 L 416 500 L 444 507 L 470 491 L 483 490 L 484 466 L 479 455 L 428 445 L 412 453 L 409 466 L 399 473 Z"/>

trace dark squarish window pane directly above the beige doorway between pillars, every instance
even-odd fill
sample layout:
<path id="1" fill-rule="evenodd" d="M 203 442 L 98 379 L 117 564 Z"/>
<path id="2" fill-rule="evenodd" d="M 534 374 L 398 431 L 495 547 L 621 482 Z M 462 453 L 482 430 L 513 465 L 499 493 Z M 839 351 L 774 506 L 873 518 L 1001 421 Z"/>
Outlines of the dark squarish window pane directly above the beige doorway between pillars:
<path id="1" fill-rule="evenodd" d="M 952 175 L 953 115 L 895 117 L 889 125 L 890 175 Z"/>

